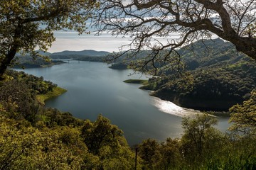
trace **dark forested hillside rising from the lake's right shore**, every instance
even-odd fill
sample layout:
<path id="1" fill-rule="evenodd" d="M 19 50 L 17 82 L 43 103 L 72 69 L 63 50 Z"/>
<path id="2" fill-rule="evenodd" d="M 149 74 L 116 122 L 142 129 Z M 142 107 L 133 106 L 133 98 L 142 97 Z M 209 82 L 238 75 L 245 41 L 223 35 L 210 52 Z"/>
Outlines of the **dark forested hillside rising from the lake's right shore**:
<path id="1" fill-rule="evenodd" d="M 220 39 L 203 40 L 179 50 L 185 72 L 160 68 L 164 76 L 149 79 L 142 89 L 179 106 L 203 111 L 228 111 L 250 97 L 256 86 L 255 61 Z M 167 68 L 167 69 L 166 69 Z"/>

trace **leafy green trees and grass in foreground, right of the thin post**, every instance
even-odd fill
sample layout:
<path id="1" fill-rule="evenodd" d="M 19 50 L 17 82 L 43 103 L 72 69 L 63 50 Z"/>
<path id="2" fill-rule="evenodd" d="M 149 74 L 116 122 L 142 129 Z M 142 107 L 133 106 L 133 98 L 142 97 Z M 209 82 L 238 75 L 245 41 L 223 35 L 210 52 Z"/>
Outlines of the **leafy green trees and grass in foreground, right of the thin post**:
<path id="1" fill-rule="evenodd" d="M 138 145 L 143 169 L 255 169 L 252 138 L 233 138 L 214 128 L 217 120 L 200 114 L 183 119 L 181 139 Z"/>

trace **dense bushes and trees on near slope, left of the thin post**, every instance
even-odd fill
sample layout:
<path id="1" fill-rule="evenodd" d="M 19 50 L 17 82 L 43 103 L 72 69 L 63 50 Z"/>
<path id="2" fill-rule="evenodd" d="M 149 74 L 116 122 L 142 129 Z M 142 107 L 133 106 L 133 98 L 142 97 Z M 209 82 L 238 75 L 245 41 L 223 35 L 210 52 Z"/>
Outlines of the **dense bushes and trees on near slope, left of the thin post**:
<path id="1" fill-rule="evenodd" d="M 16 78 L 22 75 L 14 73 Z M 6 95 L 1 95 L 0 104 L 0 169 L 134 168 L 134 154 L 122 130 L 111 125 L 107 118 L 100 115 L 92 123 L 57 109 L 43 108 L 32 95 L 35 89 L 28 89 L 21 79 L 1 83 L 0 92 Z M 31 97 L 21 100 L 20 96 Z M 13 102 L 6 107 L 8 100 Z M 38 106 L 33 118 L 22 114 L 24 103 Z"/>

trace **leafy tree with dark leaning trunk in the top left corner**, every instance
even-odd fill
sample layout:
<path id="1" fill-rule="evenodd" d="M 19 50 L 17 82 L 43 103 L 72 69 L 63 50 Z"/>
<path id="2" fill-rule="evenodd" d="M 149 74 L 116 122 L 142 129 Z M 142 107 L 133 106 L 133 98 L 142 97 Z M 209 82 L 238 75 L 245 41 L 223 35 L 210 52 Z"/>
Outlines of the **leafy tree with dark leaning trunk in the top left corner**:
<path id="1" fill-rule="evenodd" d="M 55 40 L 53 30 L 85 32 L 91 9 L 90 0 L 2 0 L 0 1 L 0 76 L 16 52 L 38 55 Z"/>

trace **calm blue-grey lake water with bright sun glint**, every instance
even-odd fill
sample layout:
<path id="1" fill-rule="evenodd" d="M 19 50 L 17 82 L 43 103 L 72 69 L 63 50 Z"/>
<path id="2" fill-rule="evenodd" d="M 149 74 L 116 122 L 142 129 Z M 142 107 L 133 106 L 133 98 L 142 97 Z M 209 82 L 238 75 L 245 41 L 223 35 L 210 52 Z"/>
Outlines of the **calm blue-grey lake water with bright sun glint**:
<path id="1" fill-rule="evenodd" d="M 159 141 L 181 137 L 181 120 L 196 111 L 149 96 L 139 84 L 126 79 L 147 79 L 132 70 L 115 70 L 100 62 L 72 61 L 53 67 L 25 69 L 24 72 L 53 81 L 68 92 L 46 101 L 47 107 L 68 111 L 76 118 L 96 120 L 102 114 L 124 131 L 129 145 L 149 137 Z M 228 128 L 228 118 L 218 118 L 218 129 Z"/>

